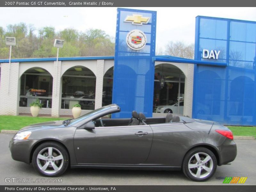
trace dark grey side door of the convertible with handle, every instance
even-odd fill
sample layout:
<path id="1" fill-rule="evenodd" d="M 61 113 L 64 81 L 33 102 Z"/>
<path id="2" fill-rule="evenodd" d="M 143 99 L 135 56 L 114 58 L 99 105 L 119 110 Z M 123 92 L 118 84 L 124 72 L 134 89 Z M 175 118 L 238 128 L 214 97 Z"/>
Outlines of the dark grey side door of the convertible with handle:
<path id="1" fill-rule="evenodd" d="M 76 160 L 78 164 L 141 164 L 148 158 L 152 140 L 149 125 L 77 129 Z"/>

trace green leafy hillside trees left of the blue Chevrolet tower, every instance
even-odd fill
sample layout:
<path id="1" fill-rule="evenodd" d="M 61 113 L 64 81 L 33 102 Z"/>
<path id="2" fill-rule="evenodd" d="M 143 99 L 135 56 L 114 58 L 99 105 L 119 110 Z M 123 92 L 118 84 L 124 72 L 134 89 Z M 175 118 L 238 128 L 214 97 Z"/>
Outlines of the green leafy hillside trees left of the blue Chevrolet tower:
<path id="1" fill-rule="evenodd" d="M 88 29 L 78 32 L 66 28 L 59 32 L 54 27 L 46 26 L 38 29 L 33 25 L 19 23 L 0 27 L 0 59 L 9 58 L 9 47 L 5 45 L 5 37 L 16 37 L 16 46 L 12 46 L 12 59 L 15 58 L 47 58 L 56 57 L 57 48 L 53 47 L 54 39 L 63 39 L 64 46 L 59 50 L 59 57 L 108 56 L 114 55 L 114 38 L 100 29 Z"/>

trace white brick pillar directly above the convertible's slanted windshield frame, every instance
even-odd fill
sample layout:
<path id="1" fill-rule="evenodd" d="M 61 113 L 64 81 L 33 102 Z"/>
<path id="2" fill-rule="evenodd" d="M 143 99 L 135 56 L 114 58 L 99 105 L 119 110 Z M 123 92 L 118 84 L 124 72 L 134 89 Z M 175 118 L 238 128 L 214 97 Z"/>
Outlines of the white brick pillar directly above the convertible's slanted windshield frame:
<path id="1" fill-rule="evenodd" d="M 104 60 L 97 60 L 95 109 L 102 107 L 103 76 L 104 76 Z"/>

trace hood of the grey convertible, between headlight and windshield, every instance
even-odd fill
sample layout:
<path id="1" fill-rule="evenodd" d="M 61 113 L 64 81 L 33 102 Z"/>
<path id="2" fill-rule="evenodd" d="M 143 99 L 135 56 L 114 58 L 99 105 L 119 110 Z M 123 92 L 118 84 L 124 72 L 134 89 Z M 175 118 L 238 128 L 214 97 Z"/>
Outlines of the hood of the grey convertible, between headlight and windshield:
<path id="1" fill-rule="evenodd" d="M 49 121 L 49 122 L 43 122 L 43 123 L 37 123 L 33 125 L 29 125 L 26 127 L 23 127 L 18 132 L 22 131 L 35 131 L 35 130 L 41 130 L 41 129 L 54 129 L 54 128 L 60 128 L 65 127 L 62 123 L 64 120 L 59 121 Z"/>

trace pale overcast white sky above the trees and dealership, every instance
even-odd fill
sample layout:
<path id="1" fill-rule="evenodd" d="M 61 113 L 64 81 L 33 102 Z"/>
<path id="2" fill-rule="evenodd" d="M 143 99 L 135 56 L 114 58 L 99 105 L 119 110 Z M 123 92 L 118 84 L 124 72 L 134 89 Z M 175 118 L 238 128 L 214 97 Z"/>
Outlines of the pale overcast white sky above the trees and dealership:
<path id="1" fill-rule="evenodd" d="M 195 18 L 198 15 L 256 21 L 255 7 L 126 7 L 157 11 L 156 49 L 164 50 L 169 41 L 195 41 Z M 104 30 L 109 36 L 116 33 L 116 7 L 1 7 L 0 26 L 25 22 L 36 29 L 55 27 L 56 31 L 75 28 Z"/>

